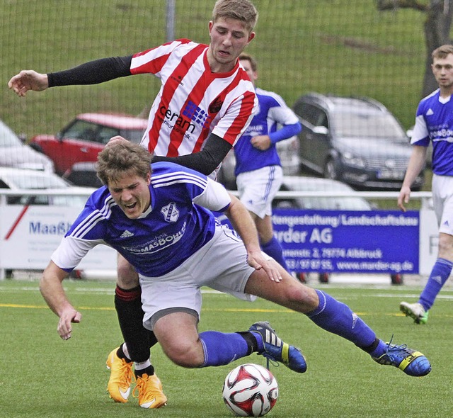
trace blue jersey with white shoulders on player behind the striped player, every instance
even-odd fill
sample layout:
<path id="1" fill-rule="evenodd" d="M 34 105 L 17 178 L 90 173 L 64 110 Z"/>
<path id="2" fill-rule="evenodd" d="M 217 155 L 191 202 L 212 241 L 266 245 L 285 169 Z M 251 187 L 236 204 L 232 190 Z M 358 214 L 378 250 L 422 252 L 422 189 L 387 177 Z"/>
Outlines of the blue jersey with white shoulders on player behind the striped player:
<path id="1" fill-rule="evenodd" d="M 258 88 L 255 93 L 258 97 L 258 110 L 246 132 L 234 145 L 236 176 L 265 166 L 280 165 L 275 144 L 297 135 L 301 130 L 297 115 L 278 94 Z M 282 129 L 279 129 L 281 127 Z M 250 140 L 257 135 L 269 135 L 272 145 L 265 151 L 254 148 Z"/>

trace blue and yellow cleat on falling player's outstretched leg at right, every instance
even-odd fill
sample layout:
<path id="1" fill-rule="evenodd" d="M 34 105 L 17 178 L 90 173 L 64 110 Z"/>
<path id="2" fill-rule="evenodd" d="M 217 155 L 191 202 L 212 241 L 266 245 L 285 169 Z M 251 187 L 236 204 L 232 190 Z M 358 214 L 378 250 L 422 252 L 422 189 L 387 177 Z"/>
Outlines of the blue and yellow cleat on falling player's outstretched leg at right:
<path id="1" fill-rule="evenodd" d="M 386 344 L 385 353 L 382 356 L 373 357 L 373 360 L 377 361 L 377 363 L 395 366 L 410 376 L 421 377 L 430 373 L 430 362 L 420 351 L 408 349 L 406 344 L 397 346 L 396 344 L 391 344 L 391 341 Z"/>

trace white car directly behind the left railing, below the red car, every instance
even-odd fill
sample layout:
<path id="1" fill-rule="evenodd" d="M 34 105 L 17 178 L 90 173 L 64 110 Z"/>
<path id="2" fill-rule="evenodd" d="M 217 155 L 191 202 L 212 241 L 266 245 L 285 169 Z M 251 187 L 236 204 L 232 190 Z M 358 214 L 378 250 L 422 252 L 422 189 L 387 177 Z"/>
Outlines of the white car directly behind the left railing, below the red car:
<path id="1" fill-rule="evenodd" d="M 58 205 L 79 208 L 84 207 L 89 193 L 93 191 L 93 188 L 72 186 L 55 173 L 9 167 L 0 167 L 0 189 L 18 192 L 6 196 L 8 205 Z M 52 189 L 53 192 L 61 191 L 62 194 L 29 196 L 21 193 L 23 190 L 33 189 Z"/>

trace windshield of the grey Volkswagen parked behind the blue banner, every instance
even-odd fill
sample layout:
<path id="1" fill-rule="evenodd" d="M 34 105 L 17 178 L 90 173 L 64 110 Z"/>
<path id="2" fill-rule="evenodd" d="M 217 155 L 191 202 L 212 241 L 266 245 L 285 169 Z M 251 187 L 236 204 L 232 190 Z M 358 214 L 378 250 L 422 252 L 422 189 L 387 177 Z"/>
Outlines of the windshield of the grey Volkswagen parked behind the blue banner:
<path id="1" fill-rule="evenodd" d="M 333 128 L 337 135 L 345 137 L 399 138 L 406 142 L 406 135 L 398 121 L 389 113 L 336 112 Z"/>

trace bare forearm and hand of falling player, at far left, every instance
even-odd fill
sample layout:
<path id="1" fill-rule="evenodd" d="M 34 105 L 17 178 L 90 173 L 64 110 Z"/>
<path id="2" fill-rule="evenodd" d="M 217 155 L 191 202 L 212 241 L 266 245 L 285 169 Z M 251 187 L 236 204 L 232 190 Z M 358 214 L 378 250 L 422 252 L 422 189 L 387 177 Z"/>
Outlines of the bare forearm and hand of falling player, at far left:
<path id="1" fill-rule="evenodd" d="M 40 280 L 42 297 L 52 312 L 59 317 L 57 332 L 64 340 L 71 338 L 72 323 L 80 322 L 82 317 L 81 313 L 77 312 L 69 303 L 66 293 L 64 293 L 62 281 L 66 277 L 67 272 L 50 261 Z"/>

